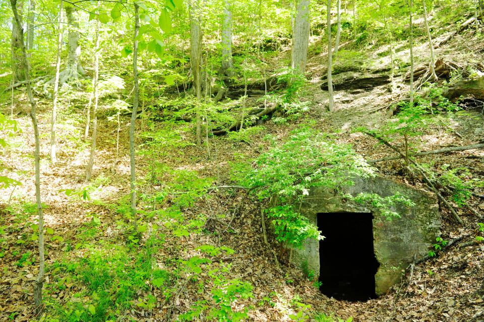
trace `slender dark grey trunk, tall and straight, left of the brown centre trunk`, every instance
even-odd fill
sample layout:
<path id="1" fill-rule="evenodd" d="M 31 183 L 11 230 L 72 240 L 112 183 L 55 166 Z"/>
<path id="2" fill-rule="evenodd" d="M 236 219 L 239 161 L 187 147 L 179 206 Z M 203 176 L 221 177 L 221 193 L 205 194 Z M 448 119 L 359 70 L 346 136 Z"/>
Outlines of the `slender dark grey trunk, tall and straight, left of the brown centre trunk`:
<path id="1" fill-rule="evenodd" d="M 138 221 L 136 215 L 136 160 L 135 160 L 135 126 L 138 112 L 139 84 L 138 84 L 138 32 L 140 30 L 140 7 L 135 2 L 135 33 L 133 36 L 133 78 L 134 78 L 134 97 L 133 112 L 131 114 L 130 126 L 130 166 L 131 166 L 131 215 L 133 217 L 133 227 L 138 231 Z"/>

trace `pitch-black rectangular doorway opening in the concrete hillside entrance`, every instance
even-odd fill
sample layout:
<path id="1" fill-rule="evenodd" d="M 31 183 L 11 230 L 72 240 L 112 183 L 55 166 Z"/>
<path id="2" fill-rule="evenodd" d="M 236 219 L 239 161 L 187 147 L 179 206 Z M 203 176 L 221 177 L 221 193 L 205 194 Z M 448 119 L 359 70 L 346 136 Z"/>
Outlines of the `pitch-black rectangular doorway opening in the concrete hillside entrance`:
<path id="1" fill-rule="evenodd" d="M 337 300 L 366 301 L 377 298 L 378 263 L 373 248 L 371 213 L 321 213 L 318 227 L 320 290 Z"/>

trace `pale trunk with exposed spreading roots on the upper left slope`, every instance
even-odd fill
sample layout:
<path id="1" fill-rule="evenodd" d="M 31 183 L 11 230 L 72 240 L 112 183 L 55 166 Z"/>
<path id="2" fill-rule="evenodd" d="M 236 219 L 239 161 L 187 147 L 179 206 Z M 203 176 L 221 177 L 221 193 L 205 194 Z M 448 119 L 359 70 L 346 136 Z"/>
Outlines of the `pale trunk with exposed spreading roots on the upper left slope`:
<path id="1" fill-rule="evenodd" d="M 81 45 L 79 44 L 79 22 L 77 21 L 73 7 L 66 7 L 66 17 L 69 25 L 69 52 L 66 69 L 61 73 L 61 84 L 76 80 L 85 74 L 81 63 L 79 62 L 79 57 L 81 55 Z"/>

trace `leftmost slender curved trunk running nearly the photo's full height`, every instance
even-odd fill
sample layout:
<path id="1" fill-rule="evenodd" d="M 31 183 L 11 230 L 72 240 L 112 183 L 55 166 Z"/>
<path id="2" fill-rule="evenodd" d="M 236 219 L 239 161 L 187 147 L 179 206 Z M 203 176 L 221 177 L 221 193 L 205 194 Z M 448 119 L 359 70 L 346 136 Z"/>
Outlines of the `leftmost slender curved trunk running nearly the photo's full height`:
<path id="1" fill-rule="evenodd" d="M 34 152 L 34 163 L 35 163 L 35 199 L 37 203 L 37 211 L 39 214 L 39 273 L 34 282 L 34 304 L 36 316 L 40 316 L 43 309 L 42 304 L 42 288 L 44 285 L 44 271 L 45 271 L 45 258 L 44 258 L 44 215 L 42 212 L 42 203 L 40 201 L 40 140 L 39 140 L 39 129 L 37 126 L 37 115 L 35 100 L 32 95 L 32 88 L 30 86 L 30 72 L 29 72 L 29 62 L 27 60 L 27 50 L 24 43 L 24 31 L 22 28 L 22 19 L 17 10 L 17 0 L 10 0 L 10 5 L 12 7 L 12 12 L 14 14 L 15 25 L 14 29 L 17 29 L 18 38 L 20 39 L 20 50 L 21 50 L 21 68 L 24 71 L 25 84 L 27 86 L 27 95 L 30 102 L 30 117 L 32 119 L 32 125 L 34 129 L 35 137 L 35 152 Z"/>

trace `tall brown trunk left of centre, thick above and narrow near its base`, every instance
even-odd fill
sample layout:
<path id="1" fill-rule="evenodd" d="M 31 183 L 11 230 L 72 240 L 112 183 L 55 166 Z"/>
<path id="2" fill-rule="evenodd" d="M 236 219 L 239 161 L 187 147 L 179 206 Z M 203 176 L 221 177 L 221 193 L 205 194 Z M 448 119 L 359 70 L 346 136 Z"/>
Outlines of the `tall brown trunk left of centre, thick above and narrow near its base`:
<path id="1" fill-rule="evenodd" d="M 193 86 L 197 100 L 202 98 L 202 80 L 200 65 L 202 60 L 202 30 L 200 26 L 200 6 L 198 0 L 192 0 L 189 3 L 190 11 L 190 62 L 193 72 Z M 200 108 L 200 106 L 197 106 Z M 200 111 L 197 111 L 197 144 L 202 144 L 202 120 Z"/>

